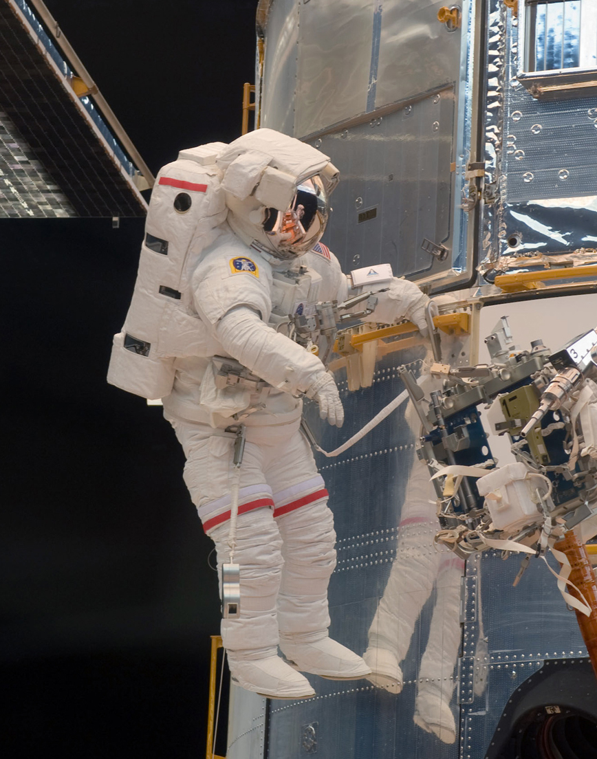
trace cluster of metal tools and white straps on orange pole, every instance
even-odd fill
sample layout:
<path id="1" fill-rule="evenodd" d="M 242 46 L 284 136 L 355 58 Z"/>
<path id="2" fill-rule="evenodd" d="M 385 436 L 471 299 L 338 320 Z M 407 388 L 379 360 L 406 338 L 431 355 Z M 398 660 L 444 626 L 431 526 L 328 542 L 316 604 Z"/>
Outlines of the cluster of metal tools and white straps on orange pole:
<path id="1" fill-rule="evenodd" d="M 597 587 L 584 546 L 597 534 L 597 331 L 555 353 L 541 340 L 520 350 L 503 317 L 485 343 L 491 364 L 452 368 L 436 355 L 431 374 L 443 386 L 428 402 L 406 378 L 436 490 L 435 541 L 463 559 L 525 553 L 515 584 L 551 550 L 597 674 Z M 481 406 L 492 433 L 509 436 L 513 463 L 497 467 Z"/>

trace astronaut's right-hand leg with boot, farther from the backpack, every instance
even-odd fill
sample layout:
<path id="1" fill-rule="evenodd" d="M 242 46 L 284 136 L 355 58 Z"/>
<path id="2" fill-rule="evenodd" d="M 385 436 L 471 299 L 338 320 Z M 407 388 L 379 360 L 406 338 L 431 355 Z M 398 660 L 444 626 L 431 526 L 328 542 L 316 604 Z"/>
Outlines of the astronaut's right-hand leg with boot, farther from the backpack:
<path id="1" fill-rule="evenodd" d="M 303 672 L 329 679 L 368 675 L 370 670 L 362 658 L 327 633 L 327 585 L 336 566 L 336 533 L 324 480 L 317 474 L 301 433 L 288 441 L 283 456 L 278 452 L 268 481 L 274 490 L 273 515 L 283 540 L 277 604 L 280 648 Z M 280 489 L 281 484 L 286 487 Z"/>

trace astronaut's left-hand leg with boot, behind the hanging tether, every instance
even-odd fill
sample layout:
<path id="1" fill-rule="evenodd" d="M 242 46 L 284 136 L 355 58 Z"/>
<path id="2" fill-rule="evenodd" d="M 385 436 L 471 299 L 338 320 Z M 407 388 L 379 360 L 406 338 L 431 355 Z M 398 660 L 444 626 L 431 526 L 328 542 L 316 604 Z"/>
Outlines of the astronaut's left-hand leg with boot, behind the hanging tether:
<path id="1" fill-rule="evenodd" d="M 218 577 L 229 561 L 231 436 L 200 424 L 171 420 L 187 455 L 185 483 L 204 530 L 216 544 Z M 240 567 L 240 616 L 223 619 L 222 639 L 232 679 L 269 698 L 314 695 L 308 680 L 277 656 L 276 599 L 283 566 L 282 540 L 264 483 L 260 446 L 247 442 L 240 472 L 234 560 Z M 221 586 L 220 586 L 221 592 Z"/>

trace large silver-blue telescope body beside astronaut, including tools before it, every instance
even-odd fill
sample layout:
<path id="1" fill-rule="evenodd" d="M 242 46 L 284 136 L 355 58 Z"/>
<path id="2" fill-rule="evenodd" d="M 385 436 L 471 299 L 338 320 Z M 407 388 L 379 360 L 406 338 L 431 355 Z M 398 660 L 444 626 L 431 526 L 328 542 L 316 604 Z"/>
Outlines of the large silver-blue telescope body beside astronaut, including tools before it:
<path id="1" fill-rule="evenodd" d="M 597 2 L 261 0 L 257 34 L 259 124 L 340 170 L 324 243 L 431 339 L 341 326 L 346 423 L 307 412 L 371 676 L 232 688 L 227 756 L 595 756 Z"/>

